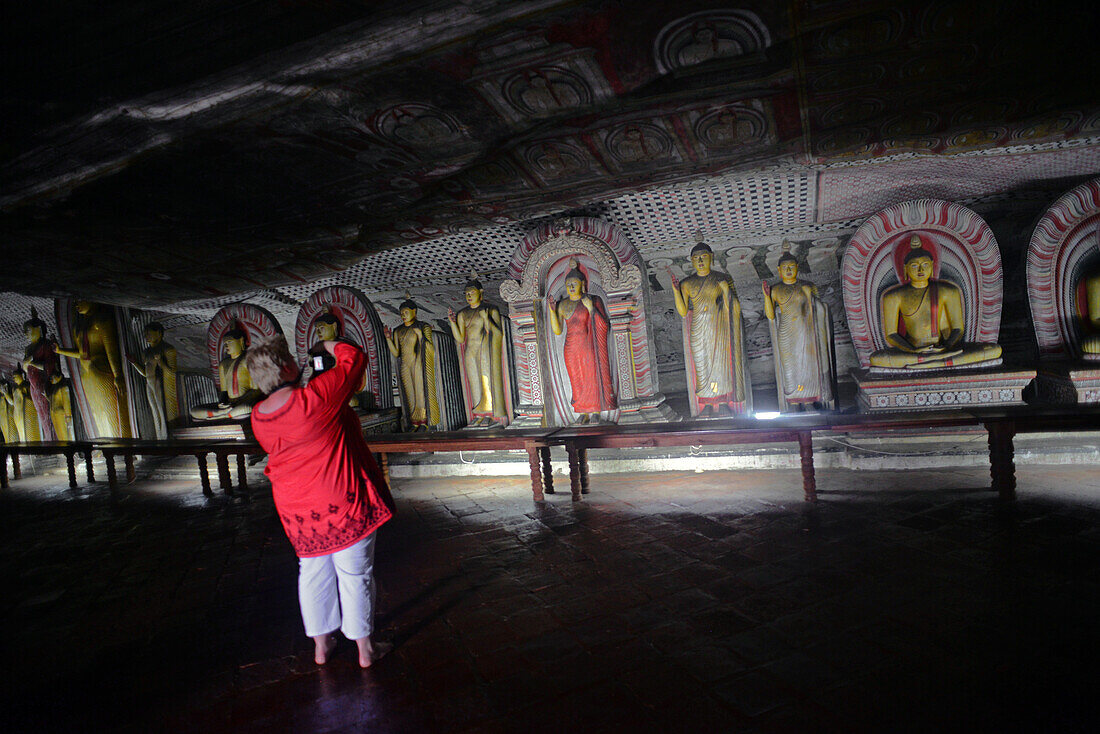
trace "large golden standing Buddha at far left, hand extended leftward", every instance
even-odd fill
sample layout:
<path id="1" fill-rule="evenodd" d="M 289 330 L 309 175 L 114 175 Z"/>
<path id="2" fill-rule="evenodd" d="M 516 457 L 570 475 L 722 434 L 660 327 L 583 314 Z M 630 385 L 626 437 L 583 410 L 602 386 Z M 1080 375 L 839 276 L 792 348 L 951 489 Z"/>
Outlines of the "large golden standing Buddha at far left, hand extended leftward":
<path id="1" fill-rule="evenodd" d="M 77 300 L 70 315 L 74 347 L 54 351 L 67 357 L 79 381 L 81 418 L 89 438 L 131 438 L 130 403 L 114 314 L 108 306 Z M 76 370 L 73 370 L 73 366 Z M 85 415 L 86 414 L 86 415 Z"/>

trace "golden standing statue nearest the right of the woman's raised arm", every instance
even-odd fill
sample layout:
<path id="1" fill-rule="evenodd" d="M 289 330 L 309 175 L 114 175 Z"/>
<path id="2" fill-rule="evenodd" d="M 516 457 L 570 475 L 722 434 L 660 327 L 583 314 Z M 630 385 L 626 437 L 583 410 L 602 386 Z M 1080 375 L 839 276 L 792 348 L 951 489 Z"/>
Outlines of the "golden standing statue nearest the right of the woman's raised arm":
<path id="1" fill-rule="evenodd" d="M 386 327 L 386 346 L 397 360 L 402 407 L 413 430 L 428 430 L 440 424 L 436 391 L 436 344 L 431 327 L 417 320 L 417 305 L 406 293 L 399 311 L 402 325 Z"/>

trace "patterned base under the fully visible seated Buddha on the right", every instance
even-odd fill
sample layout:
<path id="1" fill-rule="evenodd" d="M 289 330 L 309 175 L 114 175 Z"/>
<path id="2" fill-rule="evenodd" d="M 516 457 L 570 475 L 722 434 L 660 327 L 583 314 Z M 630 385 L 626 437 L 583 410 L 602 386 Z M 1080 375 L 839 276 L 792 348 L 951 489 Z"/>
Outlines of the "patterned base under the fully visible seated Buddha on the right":
<path id="1" fill-rule="evenodd" d="M 1034 370 L 938 372 L 921 377 L 872 377 L 853 372 L 856 399 L 866 413 L 909 413 L 1023 405 Z"/>

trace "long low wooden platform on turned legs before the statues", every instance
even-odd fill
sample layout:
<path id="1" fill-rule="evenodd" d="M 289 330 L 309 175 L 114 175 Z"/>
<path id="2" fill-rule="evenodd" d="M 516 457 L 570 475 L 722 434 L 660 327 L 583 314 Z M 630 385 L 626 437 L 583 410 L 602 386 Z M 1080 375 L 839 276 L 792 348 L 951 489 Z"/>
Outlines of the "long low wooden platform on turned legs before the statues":
<path id="1" fill-rule="evenodd" d="M 685 420 L 673 424 L 634 424 L 629 426 L 595 425 L 568 428 L 528 428 L 519 430 L 464 430 L 424 434 L 383 434 L 369 437 L 371 450 L 378 453 L 388 479 L 388 456 L 392 453 L 435 451 L 527 451 L 531 471 L 531 494 L 536 501 L 553 493 L 550 448 L 562 446 L 569 457 L 570 491 L 580 500 L 588 491 L 590 449 L 671 446 L 733 446 L 738 443 L 792 442 L 799 445 L 802 463 L 802 490 L 807 502 L 817 499 L 814 473 L 813 438 L 815 435 L 850 432 L 889 432 L 894 430 L 937 430 L 980 426 L 989 434 L 991 486 L 1001 499 L 1015 497 L 1015 464 L 1013 438 L 1018 432 L 1100 431 L 1100 407 L 1077 406 L 1071 413 L 1064 407 L 1002 407 L 985 410 L 952 410 L 910 414 L 805 414 L 780 416 L 772 420 L 727 418 L 721 420 Z M 245 456 L 263 454 L 263 449 L 250 440 L 173 439 L 151 441 L 139 439 L 95 441 L 41 441 L 0 443 L 0 486 L 8 486 L 7 458 L 12 459 L 15 479 L 20 478 L 19 457 L 25 454 L 62 454 L 65 457 L 69 485 L 76 486 L 75 457 L 84 453 L 88 481 L 95 481 L 91 452 L 101 451 L 107 460 L 108 483 L 116 489 L 118 478 L 114 458 L 122 456 L 127 476 L 133 479 L 135 456 L 194 456 L 198 461 L 202 492 L 210 496 L 207 456 L 213 453 L 218 479 L 227 494 L 233 494 L 229 457 L 235 456 L 238 481 L 248 487 Z"/>

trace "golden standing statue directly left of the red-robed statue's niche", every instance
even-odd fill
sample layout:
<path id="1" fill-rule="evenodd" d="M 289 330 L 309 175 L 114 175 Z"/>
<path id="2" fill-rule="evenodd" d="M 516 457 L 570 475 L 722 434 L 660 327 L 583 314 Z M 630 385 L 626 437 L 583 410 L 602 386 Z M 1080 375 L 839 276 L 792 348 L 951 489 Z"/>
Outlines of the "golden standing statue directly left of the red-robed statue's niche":
<path id="1" fill-rule="evenodd" d="M 471 274 L 464 294 L 466 307 L 448 309 L 451 333 L 461 353 L 462 377 L 470 402 L 471 426 L 492 426 L 507 420 L 504 398 L 501 311 L 484 302 L 485 289 Z"/>

